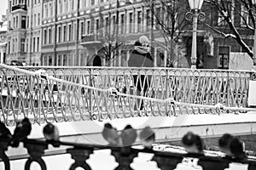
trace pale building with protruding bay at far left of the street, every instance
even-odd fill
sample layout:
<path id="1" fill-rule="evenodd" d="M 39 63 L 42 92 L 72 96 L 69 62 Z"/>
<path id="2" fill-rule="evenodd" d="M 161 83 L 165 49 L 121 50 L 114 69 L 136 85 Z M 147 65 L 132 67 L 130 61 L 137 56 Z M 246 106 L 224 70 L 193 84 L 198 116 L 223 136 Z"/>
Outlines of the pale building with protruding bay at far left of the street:
<path id="1" fill-rule="evenodd" d="M 7 63 L 41 65 L 42 0 L 10 0 Z"/>

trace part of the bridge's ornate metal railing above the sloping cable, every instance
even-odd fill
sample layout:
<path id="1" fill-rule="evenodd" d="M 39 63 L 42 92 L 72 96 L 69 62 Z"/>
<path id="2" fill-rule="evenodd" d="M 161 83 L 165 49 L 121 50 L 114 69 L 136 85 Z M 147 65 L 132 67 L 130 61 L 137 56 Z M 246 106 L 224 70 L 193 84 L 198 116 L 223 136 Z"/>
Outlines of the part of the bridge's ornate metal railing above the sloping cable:
<path id="1" fill-rule="evenodd" d="M 23 68 L 23 67 L 22 67 Z M 35 71 L 38 68 L 25 67 Z M 40 67 L 42 68 L 42 67 Z M 145 96 L 169 97 L 177 101 L 226 106 L 247 106 L 247 92 L 252 71 L 191 70 L 127 67 L 43 67 L 54 77 L 91 85 L 118 88 L 131 94 L 146 90 Z M 147 89 L 143 89 L 147 88 Z"/>

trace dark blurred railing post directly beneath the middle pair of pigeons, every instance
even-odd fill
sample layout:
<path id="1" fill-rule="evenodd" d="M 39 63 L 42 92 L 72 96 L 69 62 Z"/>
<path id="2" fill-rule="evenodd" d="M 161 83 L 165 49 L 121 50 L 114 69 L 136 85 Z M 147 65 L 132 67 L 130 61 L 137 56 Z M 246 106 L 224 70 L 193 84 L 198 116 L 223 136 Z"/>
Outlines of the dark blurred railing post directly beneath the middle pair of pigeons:
<path id="1" fill-rule="evenodd" d="M 119 163 L 119 166 L 114 168 L 114 170 L 132 170 L 131 163 L 137 157 L 137 152 L 132 151 L 131 147 L 125 146 L 120 150 L 112 150 L 111 155 Z"/>

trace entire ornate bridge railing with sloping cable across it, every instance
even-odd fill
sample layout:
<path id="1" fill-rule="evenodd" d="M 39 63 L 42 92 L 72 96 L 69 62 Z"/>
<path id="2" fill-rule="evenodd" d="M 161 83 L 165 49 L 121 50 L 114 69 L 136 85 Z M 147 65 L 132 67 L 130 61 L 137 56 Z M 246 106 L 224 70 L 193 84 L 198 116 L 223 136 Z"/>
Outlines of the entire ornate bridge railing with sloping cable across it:
<path id="1" fill-rule="evenodd" d="M 249 71 L 1 67 L 0 114 L 9 126 L 24 117 L 43 123 L 219 114 L 218 104 L 227 113 L 246 112 L 248 84 L 255 78 Z M 110 88 L 119 94 L 108 93 Z"/>

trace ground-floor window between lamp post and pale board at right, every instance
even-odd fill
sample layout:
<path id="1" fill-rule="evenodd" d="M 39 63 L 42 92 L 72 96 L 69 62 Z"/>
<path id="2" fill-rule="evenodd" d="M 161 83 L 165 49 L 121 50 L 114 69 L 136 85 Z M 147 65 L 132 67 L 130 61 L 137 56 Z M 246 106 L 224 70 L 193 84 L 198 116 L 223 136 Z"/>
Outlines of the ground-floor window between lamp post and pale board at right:
<path id="1" fill-rule="evenodd" d="M 218 68 L 229 69 L 230 47 L 218 47 Z"/>

